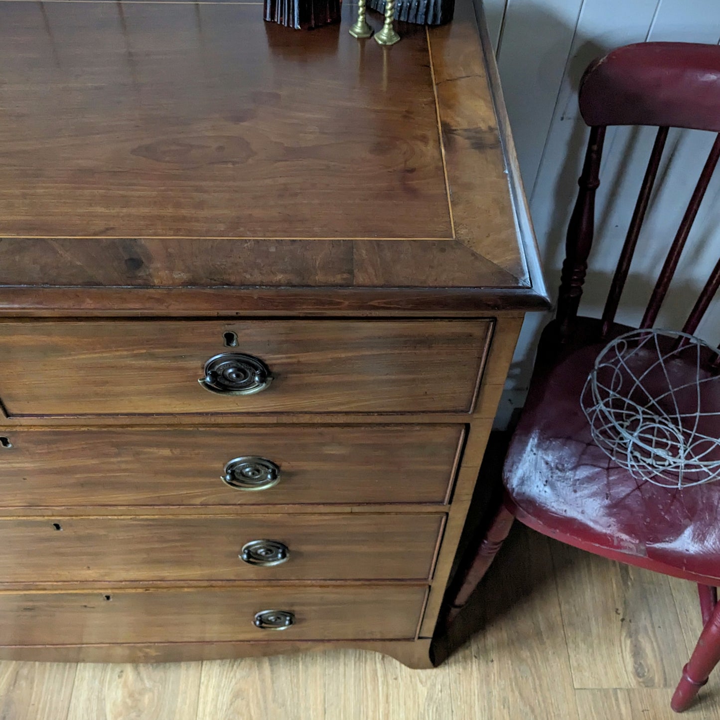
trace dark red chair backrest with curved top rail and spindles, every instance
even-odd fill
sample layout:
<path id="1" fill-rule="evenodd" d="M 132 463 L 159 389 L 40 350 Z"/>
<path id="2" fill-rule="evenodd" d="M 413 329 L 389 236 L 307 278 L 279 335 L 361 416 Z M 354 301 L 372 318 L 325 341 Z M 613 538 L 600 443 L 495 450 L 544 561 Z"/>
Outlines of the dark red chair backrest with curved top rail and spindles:
<path id="1" fill-rule="evenodd" d="M 561 334 L 567 335 L 585 282 L 593 244 L 595 190 L 608 125 L 657 126 L 652 153 L 632 215 L 618 267 L 603 311 L 603 334 L 611 326 L 628 277 L 637 239 L 671 127 L 719 133 L 703 166 L 665 264 L 645 310 L 641 327 L 652 327 L 665 299 L 708 182 L 720 158 L 720 46 L 696 43 L 626 45 L 590 63 L 580 82 L 580 113 L 590 125 L 585 164 L 567 229 L 566 257 L 557 309 Z M 720 260 L 711 272 L 683 332 L 694 333 L 718 288 Z"/>

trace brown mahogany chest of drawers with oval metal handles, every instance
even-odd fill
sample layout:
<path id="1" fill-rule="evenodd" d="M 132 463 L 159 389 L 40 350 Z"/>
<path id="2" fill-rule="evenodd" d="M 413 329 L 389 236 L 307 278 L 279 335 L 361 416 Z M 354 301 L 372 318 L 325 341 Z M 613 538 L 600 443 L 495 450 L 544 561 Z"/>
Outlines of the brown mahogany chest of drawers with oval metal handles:
<path id="1" fill-rule="evenodd" d="M 546 298 L 479 11 L 352 10 L 0 0 L 0 657 L 430 665 Z"/>

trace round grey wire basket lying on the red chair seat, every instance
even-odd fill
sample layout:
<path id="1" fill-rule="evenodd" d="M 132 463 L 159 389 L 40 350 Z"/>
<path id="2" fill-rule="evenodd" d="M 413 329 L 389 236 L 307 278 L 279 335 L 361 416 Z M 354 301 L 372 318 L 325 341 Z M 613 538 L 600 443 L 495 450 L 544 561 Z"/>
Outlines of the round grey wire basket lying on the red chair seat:
<path id="1" fill-rule="evenodd" d="M 639 480 L 683 488 L 720 479 L 716 350 L 668 330 L 633 330 L 598 355 L 581 404 L 593 440 Z"/>

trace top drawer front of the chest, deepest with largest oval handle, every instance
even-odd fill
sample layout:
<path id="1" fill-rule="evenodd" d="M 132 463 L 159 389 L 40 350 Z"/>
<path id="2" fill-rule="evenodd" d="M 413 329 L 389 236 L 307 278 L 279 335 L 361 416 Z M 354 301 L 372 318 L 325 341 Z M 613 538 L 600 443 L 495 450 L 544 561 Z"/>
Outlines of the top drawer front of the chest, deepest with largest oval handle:
<path id="1" fill-rule="evenodd" d="M 9 417 L 471 412 L 491 326 L 1 321 L 0 400 Z"/>

